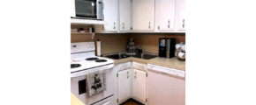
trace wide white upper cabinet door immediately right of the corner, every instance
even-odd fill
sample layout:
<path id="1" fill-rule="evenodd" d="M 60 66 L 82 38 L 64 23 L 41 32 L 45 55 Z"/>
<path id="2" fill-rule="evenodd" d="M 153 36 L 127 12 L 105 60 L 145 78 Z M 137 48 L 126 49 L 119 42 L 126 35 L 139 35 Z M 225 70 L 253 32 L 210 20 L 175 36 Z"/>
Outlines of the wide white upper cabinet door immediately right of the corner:
<path id="1" fill-rule="evenodd" d="M 132 0 L 132 31 L 154 31 L 154 0 Z"/>

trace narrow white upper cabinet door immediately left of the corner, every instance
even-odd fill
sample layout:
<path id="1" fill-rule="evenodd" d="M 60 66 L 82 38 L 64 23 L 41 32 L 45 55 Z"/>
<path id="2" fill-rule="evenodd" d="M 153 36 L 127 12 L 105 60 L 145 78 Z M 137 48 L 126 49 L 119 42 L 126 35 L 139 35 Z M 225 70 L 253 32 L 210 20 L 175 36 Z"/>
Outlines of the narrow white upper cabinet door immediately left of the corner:
<path id="1" fill-rule="evenodd" d="M 131 31 L 131 0 L 119 0 L 119 29 Z"/>

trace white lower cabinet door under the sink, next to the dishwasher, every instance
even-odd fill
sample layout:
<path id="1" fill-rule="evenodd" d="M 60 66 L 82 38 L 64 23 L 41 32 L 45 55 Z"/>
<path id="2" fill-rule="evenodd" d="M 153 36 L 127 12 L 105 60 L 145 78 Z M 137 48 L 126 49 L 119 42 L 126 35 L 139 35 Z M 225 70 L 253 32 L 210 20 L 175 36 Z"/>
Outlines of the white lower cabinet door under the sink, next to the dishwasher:
<path id="1" fill-rule="evenodd" d="M 132 77 L 132 97 L 139 102 L 146 102 L 146 92 L 147 92 L 147 81 L 146 81 L 146 72 L 133 69 Z"/>

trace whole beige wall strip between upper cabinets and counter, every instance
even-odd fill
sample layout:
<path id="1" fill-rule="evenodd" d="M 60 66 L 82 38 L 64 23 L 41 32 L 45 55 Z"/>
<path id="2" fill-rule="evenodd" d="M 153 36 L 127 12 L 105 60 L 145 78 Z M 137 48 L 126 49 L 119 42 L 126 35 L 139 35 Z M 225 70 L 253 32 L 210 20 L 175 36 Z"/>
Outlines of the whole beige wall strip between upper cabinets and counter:
<path id="1" fill-rule="evenodd" d="M 125 51 L 129 38 L 134 38 L 135 45 L 142 45 L 143 52 L 158 53 L 159 38 L 176 38 L 177 43 L 186 42 L 186 34 L 181 33 L 104 33 L 95 34 L 94 39 L 89 34 L 70 34 L 70 43 L 94 41 L 98 38 L 102 41 L 102 54 L 109 52 Z"/>

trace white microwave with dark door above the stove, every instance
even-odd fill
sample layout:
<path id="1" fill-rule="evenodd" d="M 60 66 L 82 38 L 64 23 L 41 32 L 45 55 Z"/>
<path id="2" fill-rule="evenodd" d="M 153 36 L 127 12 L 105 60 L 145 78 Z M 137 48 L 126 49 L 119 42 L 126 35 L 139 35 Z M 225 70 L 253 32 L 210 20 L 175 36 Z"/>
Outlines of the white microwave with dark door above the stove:
<path id="1" fill-rule="evenodd" d="M 70 0 L 70 18 L 103 19 L 102 0 Z"/>

